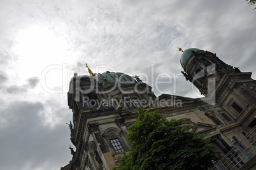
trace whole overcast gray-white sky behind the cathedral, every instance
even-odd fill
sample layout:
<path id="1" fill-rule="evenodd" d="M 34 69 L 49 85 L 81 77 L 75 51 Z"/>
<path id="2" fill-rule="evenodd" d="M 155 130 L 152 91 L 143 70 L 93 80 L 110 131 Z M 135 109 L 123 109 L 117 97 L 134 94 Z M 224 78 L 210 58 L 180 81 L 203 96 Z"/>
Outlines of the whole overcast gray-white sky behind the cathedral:
<path id="1" fill-rule="evenodd" d="M 199 97 L 177 46 L 217 53 L 255 78 L 255 26 L 244 0 L 1 0 L 0 169 L 69 163 L 67 88 L 74 71 L 88 74 L 85 63 L 141 75 L 157 96 Z M 167 83 L 156 86 L 158 76 Z"/>

